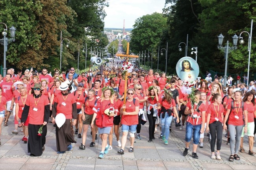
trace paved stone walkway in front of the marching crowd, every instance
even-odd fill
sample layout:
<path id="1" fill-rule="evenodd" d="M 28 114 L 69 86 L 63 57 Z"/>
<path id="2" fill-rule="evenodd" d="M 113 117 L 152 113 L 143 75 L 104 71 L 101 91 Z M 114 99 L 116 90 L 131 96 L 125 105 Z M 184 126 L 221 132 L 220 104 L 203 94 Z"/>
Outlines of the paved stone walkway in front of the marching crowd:
<path id="1" fill-rule="evenodd" d="M 11 116 L 12 117 L 12 116 Z M 57 154 L 55 127 L 52 123 L 47 125 L 45 151 L 40 157 L 30 157 L 27 152 L 27 144 L 21 141 L 23 133 L 18 135 L 11 133 L 14 130 L 14 122 L 9 118 L 8 126 L 2 124 L 2 135 L 0 137 L 0 169 L 1 170 L 255 170 L 256 155 L 249 155 L 248 137 L 244 139 L 246 153 L 239 152 L 240 161 L 229 162 L 229 145 L 226 144 L 225 133 L 223 133 L 223 143 L 221 147 L 221 161 L 210 159 L 210 144 L 205 133 L 204 148 L 197 149 L 199 159 L 191 157 L 192 150 L 184 157 L 184 138 L 185 129 L 179 130 L 173 125 L 170 133 L 169 145 L 164 145 L 158 139 L 160 130 L 156 132 L 156 139 L 148 143 L 148 122 L 141 126 L 141 140 L 135 139 L 134 152 L 129 153 L 130 141 L 127 141 L 124 155 L 117 151 L 115 135 L 113 135 L 113 149 L 109 151 L 104 159 L 99 159 L 98 154 L 101 150 L 101 139 L 96 140 L 95 147 L 89 147 L 91 143 L 90 130 L 88 130 L 85 150 L 80 150 L 79 146 L 82 139 L 75 139 L 72 150 L 65 154 Z M 19 128 L 19 131 L 21 128 Z M 121 129 L 120 129 L 121 132 Z M 190 145 L 192 148 L 192 144 Z M 216 148 L 216 146 L 215 146 Z M 256 151 L 254 144 L 254 152 Z"/>

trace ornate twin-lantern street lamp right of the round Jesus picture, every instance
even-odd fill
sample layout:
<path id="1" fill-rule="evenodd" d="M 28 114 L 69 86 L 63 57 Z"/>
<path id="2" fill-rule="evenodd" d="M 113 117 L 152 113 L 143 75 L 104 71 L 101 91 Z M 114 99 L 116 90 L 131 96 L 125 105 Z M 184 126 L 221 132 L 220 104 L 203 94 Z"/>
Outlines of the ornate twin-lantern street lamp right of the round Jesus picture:
<path id="1" fill-rule="evenodd" d="M 224 86 L 226 86 L 226 81 L 227 81 L 227 68 L 228 68 L 228 53 L 230 53 L 231 51 L 233 51 L 234 49 L 237 49 L 237 40 L 238 40 L 238 36 L 235 34 L 233 37 L 233 47 L 229 47 L 229 42 L 227 41 L 226 46 L 222 47 L 222 42 L 224 39 L 224 36 L 222 34 L 220 34 L 218 36 L 218 42 L 219 42 L 219 46 L 218 49 L 223 51 L 224 53 L 226 53 L 226 62 L 225 62 L 225 75 L 224 75 Z"/>

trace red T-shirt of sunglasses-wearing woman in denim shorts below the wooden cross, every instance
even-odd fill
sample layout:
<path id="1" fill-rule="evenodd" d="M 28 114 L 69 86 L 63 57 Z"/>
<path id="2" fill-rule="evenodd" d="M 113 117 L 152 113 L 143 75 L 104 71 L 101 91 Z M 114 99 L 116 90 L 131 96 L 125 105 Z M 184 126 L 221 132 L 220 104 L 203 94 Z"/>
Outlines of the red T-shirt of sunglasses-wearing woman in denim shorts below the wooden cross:
<path id="1" fill-rule="evenodd" d="M 135 100 L 135 104 L 134 101 L 128 101 L 126 100 L 125 103 L 126 112 L 134 112 L 135 111 L 135 107 L 139 107 L 139 101 Z M 127 126 L 131 126 L 131 125 L 135 125 L 139 123 L 139 117 L 138 114 L 136 115 L 122 115 L 122 120 L 121 120 L 121 124 L 127 125 Z"/>

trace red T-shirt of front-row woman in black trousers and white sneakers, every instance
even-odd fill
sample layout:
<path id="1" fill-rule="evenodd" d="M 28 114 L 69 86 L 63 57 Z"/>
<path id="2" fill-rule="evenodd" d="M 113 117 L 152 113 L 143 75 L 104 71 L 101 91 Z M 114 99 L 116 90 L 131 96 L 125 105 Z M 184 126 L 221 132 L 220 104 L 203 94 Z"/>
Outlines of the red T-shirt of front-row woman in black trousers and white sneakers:
<path id="1" fill-rule="evenodd" d="M 219 106 L 215 106 L 213 103 L 211 103 L 206 112 L 207 116 L 208 114 L 211 115 L 209 124 L 217 121 L 215 118 L 217 118 L 220 122 L 222 122 L 221 114 L 223 114 L 223 112 L 224 112 L 224 106 L 222 104 L 219 104 Z"/>

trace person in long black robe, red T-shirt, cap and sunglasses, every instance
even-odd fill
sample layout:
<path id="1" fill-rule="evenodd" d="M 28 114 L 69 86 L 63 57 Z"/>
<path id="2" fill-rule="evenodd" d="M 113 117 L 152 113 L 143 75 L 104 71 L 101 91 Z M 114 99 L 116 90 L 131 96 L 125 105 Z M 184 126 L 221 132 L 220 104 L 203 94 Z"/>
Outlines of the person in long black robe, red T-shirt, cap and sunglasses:
<path id="1" fill-rule="evenodd" d="M 47 122 L 50 116 L 49 100 L 42 95 L 41 84 L 35 83 L 32 88 L 32 95 L 29 95 L 22 115 L 21 122 L 25 126 L 25 122 L 29 115 L 28 122 L 28 152 L 30 156 L 41 156 L 45 150 L 45 136 L 47 133 Z M 43 126 L 44 125 L 44 126 Z M 43 126 L 43 132 L 38 135 L 38 130 Z"/>

